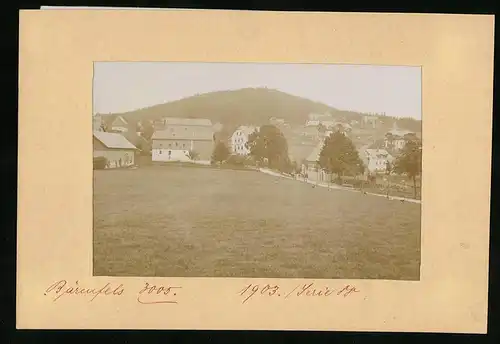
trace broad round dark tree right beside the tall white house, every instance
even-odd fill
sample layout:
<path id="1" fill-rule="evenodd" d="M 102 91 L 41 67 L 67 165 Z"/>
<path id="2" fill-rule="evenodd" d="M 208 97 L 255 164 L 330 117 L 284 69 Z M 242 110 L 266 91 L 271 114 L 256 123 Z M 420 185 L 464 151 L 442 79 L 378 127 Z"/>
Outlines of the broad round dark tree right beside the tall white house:
<path id="1" fill-rule="evenodd" d="M 288 143 L 283 133 L 274 125 L 263 125 L 248 137 L 246 147 L 256 161 L 272 169 L 286 169 L 290 163 Z"/>

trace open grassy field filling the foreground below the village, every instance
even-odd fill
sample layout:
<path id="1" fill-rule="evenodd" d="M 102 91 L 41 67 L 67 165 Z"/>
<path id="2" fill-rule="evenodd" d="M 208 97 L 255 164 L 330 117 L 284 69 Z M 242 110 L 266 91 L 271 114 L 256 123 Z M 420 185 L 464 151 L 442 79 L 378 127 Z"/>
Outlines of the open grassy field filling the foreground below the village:
<path id="1" fill-rule="evenodd" d="M 420 205 L 255 171 L 94 171 L 94 274 L 418 280 Z"/>

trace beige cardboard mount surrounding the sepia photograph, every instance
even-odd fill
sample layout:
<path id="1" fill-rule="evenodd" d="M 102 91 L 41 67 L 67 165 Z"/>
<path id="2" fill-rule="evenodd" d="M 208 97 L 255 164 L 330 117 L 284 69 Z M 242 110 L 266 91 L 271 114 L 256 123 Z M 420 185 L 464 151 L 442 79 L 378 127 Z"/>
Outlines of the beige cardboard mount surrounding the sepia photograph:
<path id="1" fill-rule="evenodd" d="M 21 11 L 17 327 L 484 333 L 493 33 L 483 15 Z M 422 66 L 421 280 L 327 280 L 360 292 L 242 304 L 247 283 L 303 281 L 93 277 L 94 61 Z M 54 302 L 59 280 L 118 289 Z M 182 286 L 178 303 L 139 303 L 146 282 Z"/>

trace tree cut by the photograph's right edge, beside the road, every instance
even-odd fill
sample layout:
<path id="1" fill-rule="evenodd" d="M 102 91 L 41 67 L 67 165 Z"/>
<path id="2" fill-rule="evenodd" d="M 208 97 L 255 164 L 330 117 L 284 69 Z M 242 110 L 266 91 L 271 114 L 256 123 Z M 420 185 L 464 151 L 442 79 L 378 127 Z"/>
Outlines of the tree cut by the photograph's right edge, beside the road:
<path id="1" fill-rule="evenodd" d="M 417 177 L 422 173 L 422 144 L 419 140 L 409 140 L 396 158 L 394 172 L 405 174 L 413 181 L 413 195 L 417 198 Z"/>

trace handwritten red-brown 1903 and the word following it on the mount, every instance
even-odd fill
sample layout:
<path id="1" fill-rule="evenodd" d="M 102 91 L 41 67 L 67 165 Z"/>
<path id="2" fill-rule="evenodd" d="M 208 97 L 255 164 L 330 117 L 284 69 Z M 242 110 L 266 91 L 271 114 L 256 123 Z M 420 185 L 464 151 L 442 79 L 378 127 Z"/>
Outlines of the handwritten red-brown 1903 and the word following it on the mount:
<path id="1" fill-rule="evenodd" d="M 242 303 L 245 303 L 255 296 L 271 296 L 275 298 L 283 297 L 285 299 L 290 297 L 329 297 L 332 295 L 348 297 L 351 294 L 358 292 L 359 290 L 352 285 L 346 285 L 341 288 L 334 289 L 328 286 L 318 287 L 313 282 L 298 284 L 295 288 L 289 291 L 285 291 L 278 285 L 248 284 L 245 288 L 238 291 L 238 294 L 243 296 Z"/>

